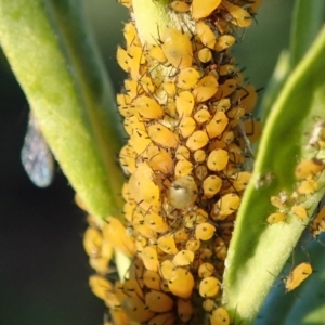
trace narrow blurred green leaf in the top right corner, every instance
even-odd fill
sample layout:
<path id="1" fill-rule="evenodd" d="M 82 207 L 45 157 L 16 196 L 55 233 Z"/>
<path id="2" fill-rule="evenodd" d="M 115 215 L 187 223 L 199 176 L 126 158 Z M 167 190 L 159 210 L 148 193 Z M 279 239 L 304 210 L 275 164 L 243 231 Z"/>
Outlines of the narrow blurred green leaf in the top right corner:
<path id="1" fill-rule="evenodd" d="M 304 56 L 325 20 L 324 0 L 296 0 L 291 27 L 290 66 Z"/>

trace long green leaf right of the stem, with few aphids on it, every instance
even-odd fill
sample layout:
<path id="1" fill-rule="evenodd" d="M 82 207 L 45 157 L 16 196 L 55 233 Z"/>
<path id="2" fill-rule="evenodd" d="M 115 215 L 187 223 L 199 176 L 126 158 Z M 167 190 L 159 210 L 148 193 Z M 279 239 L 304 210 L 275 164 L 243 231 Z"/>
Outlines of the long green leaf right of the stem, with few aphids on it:
<path id="1" fill-rule="evenodd" d="M 272 107 L 259 146 L 252 180 L 249 183 L 225 262 L 223 302 L 242 324 L 251 324 L 275 276 L 283 269 L 306 224 L 289 216 L 287 223 L 272 226 L 266 218 L 275 212 L 270 196 L 285 191 L 290 195 L 296 183 L 295 168 L 310 157 L 308 134 L 317 118 L 325 116 L 325 28 L 320 32 L 297 68 L 288 77 Z M 309 213 L 324 194 L 307 199 Z"/>

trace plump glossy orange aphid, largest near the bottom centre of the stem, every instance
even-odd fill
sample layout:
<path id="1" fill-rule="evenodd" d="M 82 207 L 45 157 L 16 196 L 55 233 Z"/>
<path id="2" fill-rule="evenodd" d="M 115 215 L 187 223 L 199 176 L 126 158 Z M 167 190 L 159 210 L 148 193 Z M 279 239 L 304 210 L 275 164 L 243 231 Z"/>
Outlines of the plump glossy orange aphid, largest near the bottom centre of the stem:
<path id="1" fill-rule="evenodd" d="M 178 268 L 168 281 L 170 291 L 180 298 L 190 298 L 194 288 L 194 278 L 190 271 Z"/>

